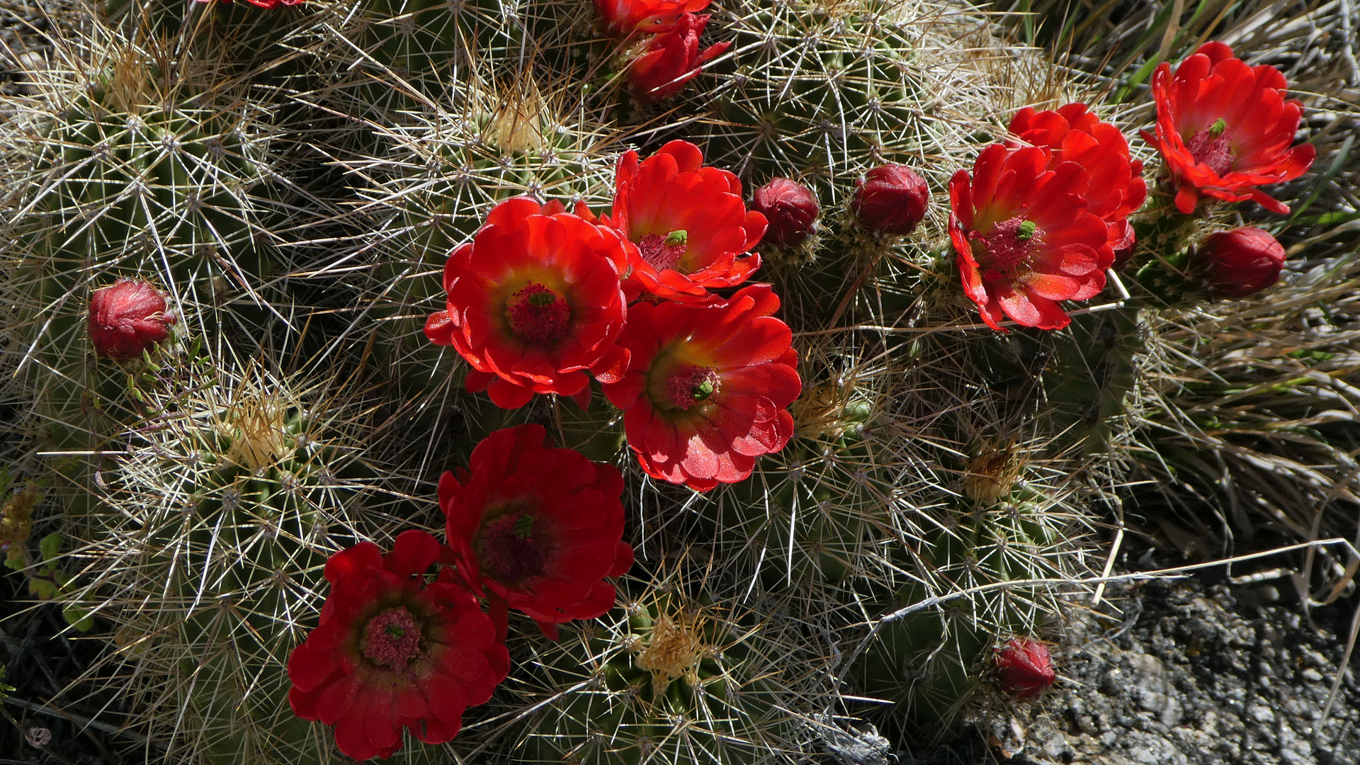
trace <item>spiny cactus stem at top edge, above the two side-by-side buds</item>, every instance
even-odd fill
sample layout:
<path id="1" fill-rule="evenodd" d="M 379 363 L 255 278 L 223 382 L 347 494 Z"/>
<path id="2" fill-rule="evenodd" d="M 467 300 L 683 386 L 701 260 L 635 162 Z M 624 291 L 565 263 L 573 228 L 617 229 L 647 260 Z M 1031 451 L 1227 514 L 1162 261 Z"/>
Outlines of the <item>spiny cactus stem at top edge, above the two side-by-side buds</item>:
<path id="1" fill-rule="evenodd" d="M 797 178 L 840 201 L 846 182 L 915 154 L 918 39 L 887 3 L 748 3 L 728 26 L 734 68 L 714 91 L 709 157 L 760 184 Z"/>

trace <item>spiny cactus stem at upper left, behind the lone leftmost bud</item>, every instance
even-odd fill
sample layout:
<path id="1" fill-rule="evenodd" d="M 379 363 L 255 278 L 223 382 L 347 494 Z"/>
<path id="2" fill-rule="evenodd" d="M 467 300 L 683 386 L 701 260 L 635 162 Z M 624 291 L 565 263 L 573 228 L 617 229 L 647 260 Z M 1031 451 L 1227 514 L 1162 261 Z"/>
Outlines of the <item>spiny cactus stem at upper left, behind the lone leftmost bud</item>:
<path id="1" fill-rule="evenodd" d="M 128 376 L 146 370 L 94 357 L 91 293 L 124 276 L 150 280 L 184 320 L 181 301 L 215 302 L 228 280 L 249 289 L 272 270 L 250 196 L 261 150 L 239 116 L 165 90 L 165 76 L 129 48 L 82 90 L 57 91 L 31 147 L 26 214 L 5 225 L 18 242 L 24 369 L 49 448 L 98 452 L 140 417 Z M 262 309 L 245 306 L 241 317 L 252 312 Z M 222 325 L 214 312 L 193 316 L 177 332 Z"/>

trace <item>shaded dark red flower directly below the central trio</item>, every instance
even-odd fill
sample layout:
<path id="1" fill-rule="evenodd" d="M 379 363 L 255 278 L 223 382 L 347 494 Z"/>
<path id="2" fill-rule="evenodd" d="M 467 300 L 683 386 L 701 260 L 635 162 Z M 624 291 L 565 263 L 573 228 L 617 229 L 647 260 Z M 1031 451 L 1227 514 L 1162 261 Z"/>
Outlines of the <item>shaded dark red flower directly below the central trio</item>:
<path id="1" fill-rule="evenodd" d="M 465 475 L 439 478 L 439 506 L 468 583 L 556 638 L 558 623 L 613 607 L 604 577 L 627 573 L 632 547 L 622 540 L 619 470 L 545 446 L 545 436 L 541 425 L 487 436 Z"/>

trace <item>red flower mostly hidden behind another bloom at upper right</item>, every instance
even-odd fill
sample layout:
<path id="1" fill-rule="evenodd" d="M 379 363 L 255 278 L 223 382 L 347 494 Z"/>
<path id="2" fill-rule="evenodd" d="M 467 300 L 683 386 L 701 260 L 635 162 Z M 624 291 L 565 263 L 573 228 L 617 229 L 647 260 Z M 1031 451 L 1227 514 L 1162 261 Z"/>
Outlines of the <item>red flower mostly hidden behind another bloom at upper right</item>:
<path id="1" fill-rule="evenodd" d="M 1106 222 L 1117 256 L 1132 255 L 1129 214 L 1148 199 L 1148 184 L 1142 180 L 1142 161 L 1129 157 L 1129 142 L 1119 128 L 1102 123 L 1085 103 L 1068 103 L 1057 112 L 1035 112 L 1025 106 L 1010 120 L 1010 132 L 1020 140 L 1008 140 L 1008 148 L 1047 147 L 1053 154 L 1050 169 L 1062 162 L 1085 167 L 1091 176 L 1087 212 Z"/>

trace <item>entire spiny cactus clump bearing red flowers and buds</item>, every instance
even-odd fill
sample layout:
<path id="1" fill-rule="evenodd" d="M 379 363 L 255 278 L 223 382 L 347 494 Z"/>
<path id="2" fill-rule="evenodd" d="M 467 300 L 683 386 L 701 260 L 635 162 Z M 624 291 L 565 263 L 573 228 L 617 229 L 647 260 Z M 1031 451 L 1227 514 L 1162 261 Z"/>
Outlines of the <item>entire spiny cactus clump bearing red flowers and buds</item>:
<path id="1" fill-rule="evenodd" d="M 507 588 L 548 576 L 551 534 L 520 505 L 488 501 L 462 530 L 472 540 L 447 539 L 438 573 L 416 579 L 466 588 L 469 610 L 484 602 L 509 675 L 472 701 L 452 743 L 423 743 L 452 734 L 416 730 L 401 720 L 430 719 L 403 709 L 374 723 L 386 727 L 366 753 L 806 761 L 843 734 L 835 720 L 872 717 L 892 746 L 940 734 L 978 708 L 997 666 L 1001 690 L 1021 697 L 1053 681 L 1035 640 L 1061 641 L 1065 603 L 1089 573 L 1089 505 L 1127 459 L 1145 400 L 1148 317 L 1174 302 L 1170 279 L 1187 283 L 1185 259 L 1214 250 L 1187 250 L 1187 233 L 1217 223 L 1168 227 L 1157 204 L 1175 178 L 1140 216 L 1141 162 L 1110 137 L 1119 129 L 1085 108 L 1059 117 L 1047 82 L 1015 87 L 1031 59 L 1012 60 L 985 15 L 955 0 L 170 5 L 126 0 L 83 16 L 88 44 L 63 44 L 30 72 L 39 95 L 0 128 L 20 147 L 5 176 L 23 178 L 0 229 L 0 289 L 16 295 L 0 369 L 19 370 L 14 395 L 39 404 L 18 475 L 45 493 L 37 505 L 33 489 L 3 500 L 7 513 L 63 515 L 64 558 L 49 554 L 54 542 L 39 550 L 11 534 L 23 524 L 10 515 L 7 542 L 38 550 L 20 566 L 30 577 L 61 564 L 48 596 L 113 647 L 86 679 L 126 687 L 167 761 L 359 751 L 345 749 L 352 727 L 325 724 L 354 698 L 299 701 L 324 683 L 290 656 L 339 608 L 328 588 L 351 559 L 343 551 L 394 549 L 404 530 L 453 535 L 437 508 L 450 512 L 453 487 L 487 491 L 466 475 L 473 445 L 525 423 L 585 455 L 593 486 L 622 472 L 627 521 L 612 543 L 636 561 L 617 602 L 607 610 L 592 591 L 579 613 L 602 615 L 507 617 Z M 1024 120 L 1055 131 L 1062 118 L 1100 143 L 1132 189 L 1104 207 L 1083 197 L 1069 218 L 1084 229 L 1065 234 L 1077 249 L 1027 272 L 1039 287 L 1012 279 L 1016 261 L 1062 246 L 1046 240 L 1057 223 L 987 219 L 996 189 L 983 178 L 1021 158 L 1044 199 L 1073 206 L 1085 185 L 1051 186 L 1076 184 L 1084 155 L 1032 132 L 1016 99 L 1035 101 Z M 1008 125 L 1009 143 L 986 147 Z M 1219 133 L 1206 135 L 1191 143 Z M 1049 169 L 1059 151 L 1077 159 Z M 688 167 L 700 152 L 703 167 Z M 670 208 L 715 185 L 726 196 L 710 210 L 747 216 L 733 235 L 756 218 L 778 234 L 751 255 L 711 253 L 713 274 L 681 274 L 707 222 L 636 225 L 669 221 L 638 201 L 658 199 L 638 178 L 666 163 L 695 178 L 665 192 Z M 514 197 L 526 199 L 506 207 Z M 1117 249 L 1107 234 L 1130 222 L 1129 289 L 1102 290 Z M 469 252 L 560 230 L 617 252 L 589 264 L 616 271 L 605 291 L 620 314 L 627 304 L 631 321 L 650 323 L 611 324 L 600 354 L 551 370 L 593 377 L 583 391 L 522 358 L 500 363 L 454 305 L 458 279 L 480 279 L 477 294 L 510 290 Z M 582 263 L 563 274 L 575 279 Z M 771 286 L 737 289 L 758 263 Z M 1202 298 L 1206 278 L 1189 275 Z M 554 350 L 571 312 L 586 310 L 568 276 L 558 291 L 532 282 L 499 295 L 488 332 L 522 339 L 532 324 L 530 339 Z M 99 324 L 95 290 L 116 283 L 136 283 L 136 299 Z M 1069 298 L 1089 305 L 1049 308 Z M 743 370 L 763 388 L 719 391 L 724 378 L 694 361 L 721 338 L 666 335 L 703 321 L 762 333 L 763 355 Z M 684 343 L 699 354 L 690 366 L 653 377 Z M 771 392 L 782 388 L 797 395 L 787 414 Z M 506 403 L 521 393 L 526 404 Z M 680 464 L 666 423 L 719 393 L 745 395 L 725 400 L 755 423 L 722 421 L 726 442 L 703 445 L 713 464 Z M 639 422 L 651 422 L 641 436 Z M 529 557 L 506 562 L 506 550 Z M 477 566 L 481 579 L 468 573 Z M 432 632 L 416 640 L 398 619 L 415 617 L 382 614 L 388 632 L 344 648 L 359 670 L 340 675 L 374 662 L 405 671 L 370 645 L 379 638 L 428 653 Z"/>

